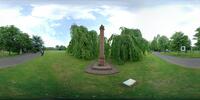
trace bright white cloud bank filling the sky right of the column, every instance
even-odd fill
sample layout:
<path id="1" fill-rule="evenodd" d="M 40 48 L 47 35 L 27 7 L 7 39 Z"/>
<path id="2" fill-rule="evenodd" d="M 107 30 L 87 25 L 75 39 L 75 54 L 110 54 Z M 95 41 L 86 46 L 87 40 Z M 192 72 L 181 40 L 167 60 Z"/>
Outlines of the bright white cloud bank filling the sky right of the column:
<path id="1" fill-rule="evenodd" d="M 200 26 L 199 9 L 191 5 L 162 5 L 132 11 L 102 6 L 99 12 L 108 17 L 109 24 L 105 30 L 107 37 L 110 33 L 120 33 L 119 27 L 125 26 L 139 28 L 147 40 L 152 40 L 157 34 L 170 38 L 176 31 L 184 32 L 192 40 L 195 29 Z"/>

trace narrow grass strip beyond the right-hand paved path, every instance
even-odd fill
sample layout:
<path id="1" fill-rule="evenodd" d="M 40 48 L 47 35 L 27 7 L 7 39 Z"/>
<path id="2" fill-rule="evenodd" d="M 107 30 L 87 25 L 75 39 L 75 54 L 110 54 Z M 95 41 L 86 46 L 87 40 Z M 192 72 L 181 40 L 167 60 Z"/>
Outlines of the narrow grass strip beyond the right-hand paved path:
<path id="1" fill-rule="evenodd" d="M 177 56 L 177 57 L 186 57 L 186 58 L 200 58 L 200 52 L 162 52 L 163 55 Z"/>

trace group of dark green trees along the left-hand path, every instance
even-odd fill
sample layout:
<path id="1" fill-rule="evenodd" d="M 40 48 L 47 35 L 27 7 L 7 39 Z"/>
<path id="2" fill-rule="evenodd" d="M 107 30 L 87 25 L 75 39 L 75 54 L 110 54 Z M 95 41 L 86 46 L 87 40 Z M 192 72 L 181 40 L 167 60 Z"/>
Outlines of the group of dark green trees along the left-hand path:
<path id="1" fill-rule="evenodd" d="M 39 36 L 29 37 L 14 25 L 0 27 L 0 50 L 14 53 L 38 52 L 44 46 Z"/>

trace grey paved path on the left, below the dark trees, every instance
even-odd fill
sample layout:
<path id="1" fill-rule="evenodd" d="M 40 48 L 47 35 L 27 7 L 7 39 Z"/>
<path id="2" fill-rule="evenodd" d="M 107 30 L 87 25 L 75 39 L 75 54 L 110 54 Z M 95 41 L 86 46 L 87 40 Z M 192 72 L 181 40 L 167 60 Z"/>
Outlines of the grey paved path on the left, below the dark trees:
<path id="1" fill-rule="evenodd" d="M 39 55 L 40 55 L 39 53 L 28 53 L 28 54 L 18 55 L 14 57 L 0 58 L 0 68 L 9 67 L 11 65 L 23 63 Z"/>

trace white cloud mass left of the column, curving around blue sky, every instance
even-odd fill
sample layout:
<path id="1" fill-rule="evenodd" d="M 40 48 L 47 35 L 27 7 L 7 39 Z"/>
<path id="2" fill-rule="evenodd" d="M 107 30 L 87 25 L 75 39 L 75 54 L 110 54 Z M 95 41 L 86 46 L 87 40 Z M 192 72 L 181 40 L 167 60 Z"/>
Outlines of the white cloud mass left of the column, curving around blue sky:
<path id="1" fill-rule="evenodd" d="M 67 19 L 91 19 L 96 17 L 92 14 L 93 9 L 70 5 L 31 5 L 32 12 L 24 16 L 22 7 L 0 6 L 0 26 L 15 25 L 30 36 L 39 35 L 45 42 L 45 46 L 65 45 L 66 41 L 56 38 L 55 27 L 60 23 L 55 20 Z"/>

